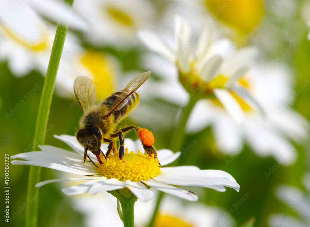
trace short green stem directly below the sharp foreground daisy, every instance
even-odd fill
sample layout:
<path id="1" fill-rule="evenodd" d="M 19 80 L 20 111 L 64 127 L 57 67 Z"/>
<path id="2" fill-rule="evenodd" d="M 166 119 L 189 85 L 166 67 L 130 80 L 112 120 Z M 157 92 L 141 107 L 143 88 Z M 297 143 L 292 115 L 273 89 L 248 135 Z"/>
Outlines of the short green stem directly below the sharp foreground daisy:
<path id="1" fill-rule="evenodd" d="M 134 222 L 134 206 L 137 201 L 137 197 L 131 193 L 127 188 L 110 191 L 110 193 L 117 198 L 122 207 L 122 213 L 120 213 L 117 201 L 117 211 L 124 223 L 124 227 L 135 227 Z"/>

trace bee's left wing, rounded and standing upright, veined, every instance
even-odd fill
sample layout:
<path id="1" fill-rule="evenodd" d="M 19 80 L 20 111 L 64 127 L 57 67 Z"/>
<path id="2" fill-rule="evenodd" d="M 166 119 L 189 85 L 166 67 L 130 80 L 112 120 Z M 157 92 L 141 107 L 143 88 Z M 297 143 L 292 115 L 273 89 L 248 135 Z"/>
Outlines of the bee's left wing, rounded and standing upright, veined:
<path id="1" fill-rule="evenodd" d="M 77 77 L 74 81 L 73 90 L 83 113 L 86 109 L 95 105 L 96 87 L 90 78 L 85 76 Z"/>

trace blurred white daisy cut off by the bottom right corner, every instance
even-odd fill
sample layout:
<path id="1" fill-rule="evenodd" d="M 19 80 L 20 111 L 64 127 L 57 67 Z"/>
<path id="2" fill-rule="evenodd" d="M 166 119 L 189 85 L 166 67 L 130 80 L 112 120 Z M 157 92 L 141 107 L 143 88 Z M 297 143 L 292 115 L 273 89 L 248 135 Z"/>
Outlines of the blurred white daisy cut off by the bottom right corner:
<path id="1" fill-rule="evenodd" d="M 272 227 L 308 227 L 310 223 L 310 174 L 303 178 L 304 189 L 281 185 L 276 189 L 277 197 L 285 204 L 282 209 L 269 217 L 268 223 Z M 290 215 L 292 211 L 297 216 Z"/>

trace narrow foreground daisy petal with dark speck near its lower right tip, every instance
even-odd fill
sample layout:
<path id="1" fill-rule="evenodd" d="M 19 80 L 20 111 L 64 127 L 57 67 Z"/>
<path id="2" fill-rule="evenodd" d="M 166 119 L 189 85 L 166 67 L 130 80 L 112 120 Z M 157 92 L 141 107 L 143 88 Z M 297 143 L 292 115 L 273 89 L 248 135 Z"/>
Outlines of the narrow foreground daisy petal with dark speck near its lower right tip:
<path id="1" fill-rule="evenodd" d="M 162 184 L 154 179 L 142 180 L 146 185 L 156 188 L 159 191 L 169 193 L 189 201 L 197 201 L 198 196 L 193 192 L 189 192 L 172 185 Z"/>

